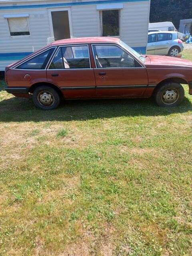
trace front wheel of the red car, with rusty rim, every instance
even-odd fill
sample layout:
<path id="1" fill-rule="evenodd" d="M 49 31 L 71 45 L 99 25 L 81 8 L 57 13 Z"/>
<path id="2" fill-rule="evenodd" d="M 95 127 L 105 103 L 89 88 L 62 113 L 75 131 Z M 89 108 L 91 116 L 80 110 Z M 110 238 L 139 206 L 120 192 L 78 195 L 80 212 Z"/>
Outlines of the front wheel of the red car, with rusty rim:
<path id="1" fill-rule="evenodd" d="M 180 84 L 169 82 L 157 88 L 154 100 L 158 106 L 175 107 L 183 101 L 184 95 L 184 88 Z"/>

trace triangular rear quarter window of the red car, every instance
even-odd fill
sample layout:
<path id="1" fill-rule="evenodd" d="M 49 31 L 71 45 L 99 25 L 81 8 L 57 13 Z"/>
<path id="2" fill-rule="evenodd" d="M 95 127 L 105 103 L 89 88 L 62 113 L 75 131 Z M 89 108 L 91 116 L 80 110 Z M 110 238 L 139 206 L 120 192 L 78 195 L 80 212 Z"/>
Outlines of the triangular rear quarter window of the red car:
<path id="1" fill-rule="evenodd" d="M 20 66 L 18 66 L 18 69 L 42 69 L 44 67 L 44 64 L 46 64 L 48 60 L 48 56 L 52 53 L 53 49 L 47 50 L 38 56 L 24 62 Z"/>

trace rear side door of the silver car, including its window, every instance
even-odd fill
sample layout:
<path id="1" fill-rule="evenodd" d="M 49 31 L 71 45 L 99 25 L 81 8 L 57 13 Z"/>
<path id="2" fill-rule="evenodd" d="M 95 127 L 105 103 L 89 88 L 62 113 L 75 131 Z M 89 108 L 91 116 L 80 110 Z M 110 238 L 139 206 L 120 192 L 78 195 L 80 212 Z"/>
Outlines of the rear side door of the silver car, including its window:
<path id="1" fill-rule="evenodd" d="M 171 34 L 171 33 L 170 33 Z M 168 33 L 158 33 L 155 46 L 155 55 L 166 55 L 172 40 L 168 40 Z"/>

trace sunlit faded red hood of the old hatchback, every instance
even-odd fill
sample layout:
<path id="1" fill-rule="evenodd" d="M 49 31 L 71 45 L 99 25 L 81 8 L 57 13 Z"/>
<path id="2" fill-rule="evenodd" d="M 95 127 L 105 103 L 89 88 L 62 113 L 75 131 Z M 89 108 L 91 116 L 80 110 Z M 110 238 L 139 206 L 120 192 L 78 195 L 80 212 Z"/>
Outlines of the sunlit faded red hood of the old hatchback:
<path id="1" fill-rule="evenodd" d="M 145 64 L 179 65 L 192 67 L 192 62 L 189 60 L 159 55 L 147 55 Z"/>

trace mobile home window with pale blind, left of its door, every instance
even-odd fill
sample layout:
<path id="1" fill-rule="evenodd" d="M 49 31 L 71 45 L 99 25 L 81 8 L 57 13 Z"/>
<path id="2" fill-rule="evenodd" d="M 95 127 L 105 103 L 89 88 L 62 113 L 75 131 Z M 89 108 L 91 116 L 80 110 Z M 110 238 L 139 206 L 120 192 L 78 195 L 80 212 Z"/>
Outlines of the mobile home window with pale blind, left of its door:
<path id="1" fill-rule="evenodd" d="M 28 36 L 30 35 L 28 18 L 7 18 L 10 36 Z"/>

